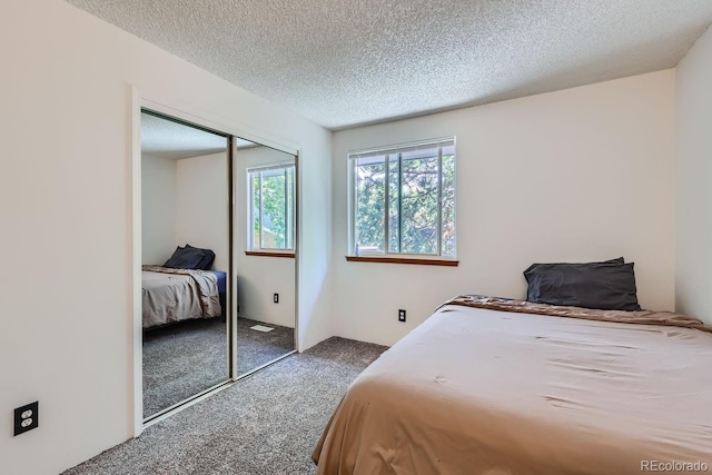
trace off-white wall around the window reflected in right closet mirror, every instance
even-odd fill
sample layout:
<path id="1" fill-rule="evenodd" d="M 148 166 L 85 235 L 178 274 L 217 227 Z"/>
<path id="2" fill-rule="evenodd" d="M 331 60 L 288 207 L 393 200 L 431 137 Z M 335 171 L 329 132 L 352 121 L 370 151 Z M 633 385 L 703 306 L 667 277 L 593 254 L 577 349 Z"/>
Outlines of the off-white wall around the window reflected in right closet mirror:
<path id="1" fill-rule="evenodd" d="M 286 327 L 295 326 L 295 259 L 246 256 L 248 244 L 247 169 L 294 160 L 294 156 L 269 147 L 238 149 L 236 154 L 236 267 L 239 315 L 245 318 Z M 273 295 L 279 294 L 279 304 Z"/>

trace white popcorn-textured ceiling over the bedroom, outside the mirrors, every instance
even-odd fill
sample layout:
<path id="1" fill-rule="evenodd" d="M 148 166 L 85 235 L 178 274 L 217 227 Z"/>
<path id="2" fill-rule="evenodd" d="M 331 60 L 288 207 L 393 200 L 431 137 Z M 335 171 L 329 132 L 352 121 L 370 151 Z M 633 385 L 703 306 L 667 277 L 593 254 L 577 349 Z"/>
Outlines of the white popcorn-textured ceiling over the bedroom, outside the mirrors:
<path id="1" fill-rule="evenodd" d="M 67 0 L 337 130 L 674 67 L 711 0 Z"/>

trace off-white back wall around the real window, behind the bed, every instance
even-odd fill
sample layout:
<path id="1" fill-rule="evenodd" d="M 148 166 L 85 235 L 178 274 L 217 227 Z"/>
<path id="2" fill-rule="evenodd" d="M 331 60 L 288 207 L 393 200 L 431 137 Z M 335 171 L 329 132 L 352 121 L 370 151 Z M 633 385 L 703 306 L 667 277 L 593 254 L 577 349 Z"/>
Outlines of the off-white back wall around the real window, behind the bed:
<path id="1" fill-rule="evenodd" d="M 523 298 L 534 261 L 624 256 L 641 305 L 672 309 L 674 80 L 665 70 L 335 132 L 334 333 L 393 344 L 455 295 Z M 347 152 L 447 136 L 459 267 L 347 263 Z"/>

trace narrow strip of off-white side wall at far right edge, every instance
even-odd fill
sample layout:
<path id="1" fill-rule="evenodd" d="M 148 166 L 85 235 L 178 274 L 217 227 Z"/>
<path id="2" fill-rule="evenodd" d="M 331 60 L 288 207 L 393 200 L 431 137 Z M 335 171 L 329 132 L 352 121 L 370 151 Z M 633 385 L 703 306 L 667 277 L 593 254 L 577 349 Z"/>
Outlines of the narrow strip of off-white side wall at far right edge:
<path id="1" fill-rule="evenodd" d="M 712 30 L 678 66 L 678 311 L 712 324 Z"/>

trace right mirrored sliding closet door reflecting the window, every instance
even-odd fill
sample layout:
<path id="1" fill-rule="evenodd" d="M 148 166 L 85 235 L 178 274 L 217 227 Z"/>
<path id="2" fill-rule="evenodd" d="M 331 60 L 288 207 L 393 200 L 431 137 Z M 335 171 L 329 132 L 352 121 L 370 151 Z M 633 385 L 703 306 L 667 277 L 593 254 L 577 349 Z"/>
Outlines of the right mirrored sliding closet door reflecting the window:
<path id="1" fill-rule="evenodd" d="M 294 353 L 296 157 L 236 139 L 237 375 Z"/>

